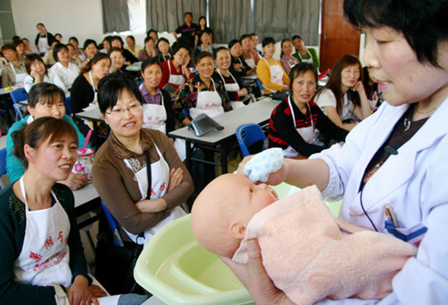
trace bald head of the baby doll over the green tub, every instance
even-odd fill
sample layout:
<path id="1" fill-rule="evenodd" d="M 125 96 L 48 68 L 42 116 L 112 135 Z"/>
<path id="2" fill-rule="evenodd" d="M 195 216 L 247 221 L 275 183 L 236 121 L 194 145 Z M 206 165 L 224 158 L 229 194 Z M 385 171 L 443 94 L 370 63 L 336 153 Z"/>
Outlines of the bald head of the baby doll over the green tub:
<path id="1" fill-rule="evenodd" d="M 221 175 L 205 187 L 194 201 L 192 229 L 203 248 L 232 257 L 255 213 L 278 200 L 266 184 L 254 184 L 246 176 Z"/>

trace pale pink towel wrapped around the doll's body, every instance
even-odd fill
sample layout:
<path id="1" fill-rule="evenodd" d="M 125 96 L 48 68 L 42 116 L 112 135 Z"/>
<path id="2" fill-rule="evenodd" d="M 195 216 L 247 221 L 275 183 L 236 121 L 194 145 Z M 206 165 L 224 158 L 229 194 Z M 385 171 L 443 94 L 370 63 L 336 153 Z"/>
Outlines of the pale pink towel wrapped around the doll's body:
<path id="1" fill-rule="evenodd" d="M 256 213 L 234 261 L 246 264 L 246 242 L 254 238 L 272 282 L 297 304 L 383 299 L 392 277 L 417 253 L 404 241 L 333 217 L 314 186 Z"/>

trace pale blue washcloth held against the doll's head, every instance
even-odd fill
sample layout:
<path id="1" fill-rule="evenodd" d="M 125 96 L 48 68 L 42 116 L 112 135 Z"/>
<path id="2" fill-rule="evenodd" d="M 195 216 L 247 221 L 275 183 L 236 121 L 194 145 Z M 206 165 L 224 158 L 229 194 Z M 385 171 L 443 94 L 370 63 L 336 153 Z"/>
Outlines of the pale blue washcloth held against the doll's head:
<path id="1" fill-rule="evenodd" d="M 266 182 L 272 172 L 280 170 L 283 163 L 283 150 L 271 148 L 257 153 L 245 165 L 245 174 L 254 183 Z"/>

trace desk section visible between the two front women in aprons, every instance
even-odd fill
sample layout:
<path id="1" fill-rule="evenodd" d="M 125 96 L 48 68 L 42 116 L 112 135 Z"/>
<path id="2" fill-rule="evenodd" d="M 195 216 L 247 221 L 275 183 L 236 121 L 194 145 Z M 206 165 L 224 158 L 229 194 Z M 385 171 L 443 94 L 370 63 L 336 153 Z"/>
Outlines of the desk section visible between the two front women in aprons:
<path id="1" fill-rule="evenodd" d="M 95 213 L 94 216 L 88 217 L 78 223 L 78 227 L 80 229 L 99 220 L 101 201 L 99 199 L 97 189 L 93 186 L 93 183 L 89 183 L 87 186 L 73 191 L 73 196 L 74 213 L 76 214 L 76 217 L 89 212 Z"/>

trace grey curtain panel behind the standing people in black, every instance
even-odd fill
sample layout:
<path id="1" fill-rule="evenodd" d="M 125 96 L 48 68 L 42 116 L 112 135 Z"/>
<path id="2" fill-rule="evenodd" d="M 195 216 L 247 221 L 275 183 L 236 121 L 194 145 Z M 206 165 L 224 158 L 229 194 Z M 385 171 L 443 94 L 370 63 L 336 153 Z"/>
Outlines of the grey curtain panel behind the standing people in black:
<path id="1" fill-rule="evenodd" d="M 193 22 L 206 14 L 206 0 L 147 0 L 146 29 L 172 32 L 184 23 L 184 13 L 193 13 Z"/>

